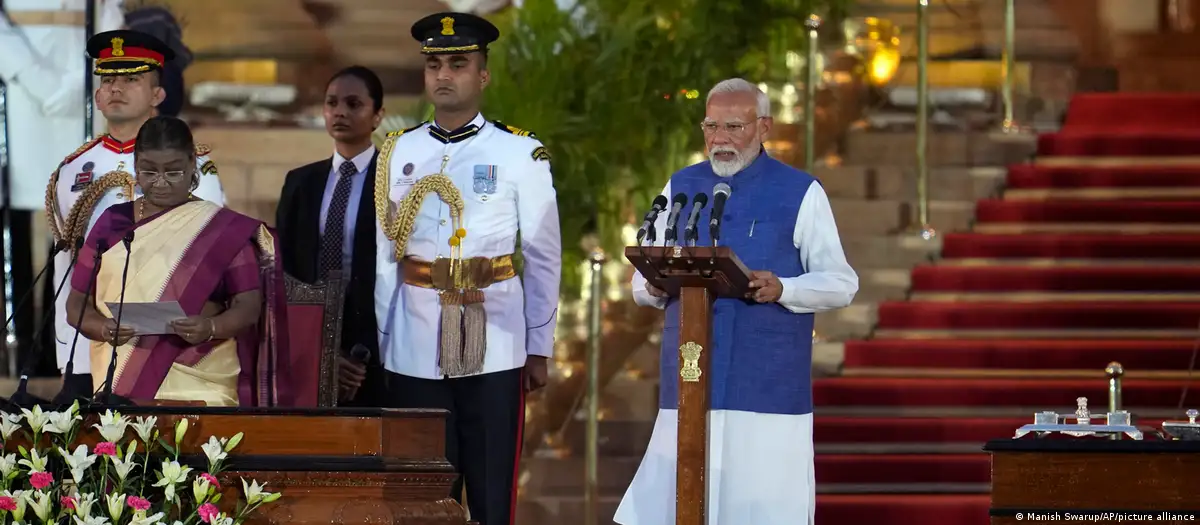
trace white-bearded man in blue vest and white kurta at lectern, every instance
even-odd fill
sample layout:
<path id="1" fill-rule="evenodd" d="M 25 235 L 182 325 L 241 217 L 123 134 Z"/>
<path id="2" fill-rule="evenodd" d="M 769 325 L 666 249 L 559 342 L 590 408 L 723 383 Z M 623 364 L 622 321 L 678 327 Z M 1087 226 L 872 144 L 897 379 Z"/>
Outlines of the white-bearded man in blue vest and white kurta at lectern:
<path id="1" fill-rule="evenodd" d="M 728 185 L 719 243 L 754 268 L 751 297 L 721 298 L 713 307 L 708 525 L 812 523 L 812 316 L 850 304 L 858 291 L 820 182 L 763 150 L 772 123 L 770 101 L 754 84 L 716 84 L 701 123 L 709 159 L 679 170 L 662 189 L 670 198 Z M 659 216 L 658 231 L 666 217 Z M 697 246 L 712 243 L 706 230 Z M 671 525 L 679 304 L 641 274 L 632 285 L 638 304 L 666 308 L 661 393 L 646 457 L 613 519 Z"/>

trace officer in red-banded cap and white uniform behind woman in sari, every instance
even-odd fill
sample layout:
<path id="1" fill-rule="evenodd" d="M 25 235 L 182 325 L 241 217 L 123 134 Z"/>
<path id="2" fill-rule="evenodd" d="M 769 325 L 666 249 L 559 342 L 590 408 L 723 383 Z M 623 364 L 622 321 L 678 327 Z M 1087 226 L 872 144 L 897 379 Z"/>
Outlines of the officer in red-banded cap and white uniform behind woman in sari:
<path id="1" fill-rule="evenodd" d="M 133 183 L 133 140 L 166 97 L 158 72 L 173 53 L 157 38 L 137 31 L 118 30 L 96 35 L 88 42 L 100 77 L 96 107 L 108 121 L 108 134 L 84 144 L 62 161 L 46 188 L 46 215 L 55 242 L 64 248 L 54 257 L 54 285 L 70 279 L 77 247 L 100 215 L 140 192 Z M 224 205 L 224 192 L 209 147 L 196 150 L 194 194 Z M 67 322 L 67 294 L 55 297 L 58 363 L 64 373 L 60 400 L 90 397 L 91 363 L 86 342 Z M 78 315 L 78 313 L 74 313 Z M 74 351 L 72 351 L 74 349 Z"/>

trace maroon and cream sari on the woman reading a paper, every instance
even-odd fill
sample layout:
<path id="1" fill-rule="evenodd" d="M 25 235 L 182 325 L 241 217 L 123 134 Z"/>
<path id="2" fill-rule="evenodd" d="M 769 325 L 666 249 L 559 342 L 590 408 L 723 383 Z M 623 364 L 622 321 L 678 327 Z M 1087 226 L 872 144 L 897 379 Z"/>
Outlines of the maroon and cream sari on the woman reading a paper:
<path id="1" fill-rule="evenodd" d="M 130 399 L 205 402 L 209 405 L 290 406 L 283 271 L 277 245 L 259 221 L 204 200 L 193 200 L 134 221 L 134 203 L 101 215 L 79 252 L 71 286 L 85 292 L 96 251 L 106 249 L 94 285 L 96 309 L 112 318 L 107 303 L 121 294 L 128 251 L 125 302 L 178 301 L 187 315 L 205 303 L 224 307 L 234 295 L 260 290 L 262 315 L 232 339 L 192 345 L 175 334 L 139 336 L 119 346 L 113 393 Z M 112 344 L 91 343 L 95 388 L 103 385 Z"/>

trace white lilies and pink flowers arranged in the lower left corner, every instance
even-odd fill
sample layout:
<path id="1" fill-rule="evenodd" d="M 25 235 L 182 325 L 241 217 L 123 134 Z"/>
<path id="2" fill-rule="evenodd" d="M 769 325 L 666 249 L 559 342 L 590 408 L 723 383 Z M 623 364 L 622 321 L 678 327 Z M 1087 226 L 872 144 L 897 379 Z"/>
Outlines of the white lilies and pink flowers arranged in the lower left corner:
<path id="1" fill-rule="evenodd" d="M 108 410 L 92 426 L 101 441 L 89 449 L 76 442 L 89 430 L 80 428 L 78 403 L 64 411 L 35 406 L 20 412 L 0 412 L 0 524 L 235 525 L 281 496 L 242 478 L 242 499 L 233 513 L 217 507 L 218 476 L 241 433 L 210 436 L 200 446 L 208 464 L 200 472 L 179 460 L 186 418 L 175 424 L 169 436 L 174 441 L 168 442 L 158 433 L 157 417 L 131 421 Z M 131 429 L 133 437 L 126 439 Z M 14 436 L 32 448 L 10 451 Z"/>

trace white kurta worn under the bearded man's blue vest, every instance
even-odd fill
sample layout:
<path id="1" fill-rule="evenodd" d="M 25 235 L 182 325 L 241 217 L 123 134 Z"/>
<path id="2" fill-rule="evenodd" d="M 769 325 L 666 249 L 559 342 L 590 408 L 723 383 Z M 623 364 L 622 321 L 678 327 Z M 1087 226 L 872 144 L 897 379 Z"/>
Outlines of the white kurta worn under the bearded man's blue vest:
<path id="1" fill-rule="evenodd" d="M 670 182 L 662 194 L 671 195 Z M 660 213 L 655 224 L 660 246 L 667 215 Z M 780 277 L 784 291 L 779 303 L 794 313 L 850 304 L 858 291 L 858 274 L 846 262 L 829 198 L 821 185 L 814 183 L 805 193 L 792 242 L 805 273 Z M 632 288 L 638 304 L 666 307 L 665 297 L 653 297 L 646 291 L 646 279 L 640 273 L 634 274 Z M 613 517 L 618 524 L 674 524 L 678 417 L 677 410 L 659 410 L 646 455 Z M 811 414 L 713 410 L 708 436 L 708 525 L 814 521 Z"/>

